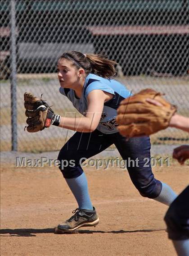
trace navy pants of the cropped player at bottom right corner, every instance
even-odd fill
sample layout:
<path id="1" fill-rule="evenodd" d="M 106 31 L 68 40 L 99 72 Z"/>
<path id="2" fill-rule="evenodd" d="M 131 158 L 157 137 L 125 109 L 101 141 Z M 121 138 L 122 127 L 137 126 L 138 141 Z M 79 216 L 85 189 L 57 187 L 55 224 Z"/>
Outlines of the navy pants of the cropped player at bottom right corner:
<path id="1" fill-rule="evenodd" d="M 164 220 L 170 239 L 189 239 L 189 186 L 171 203 Z"/>

